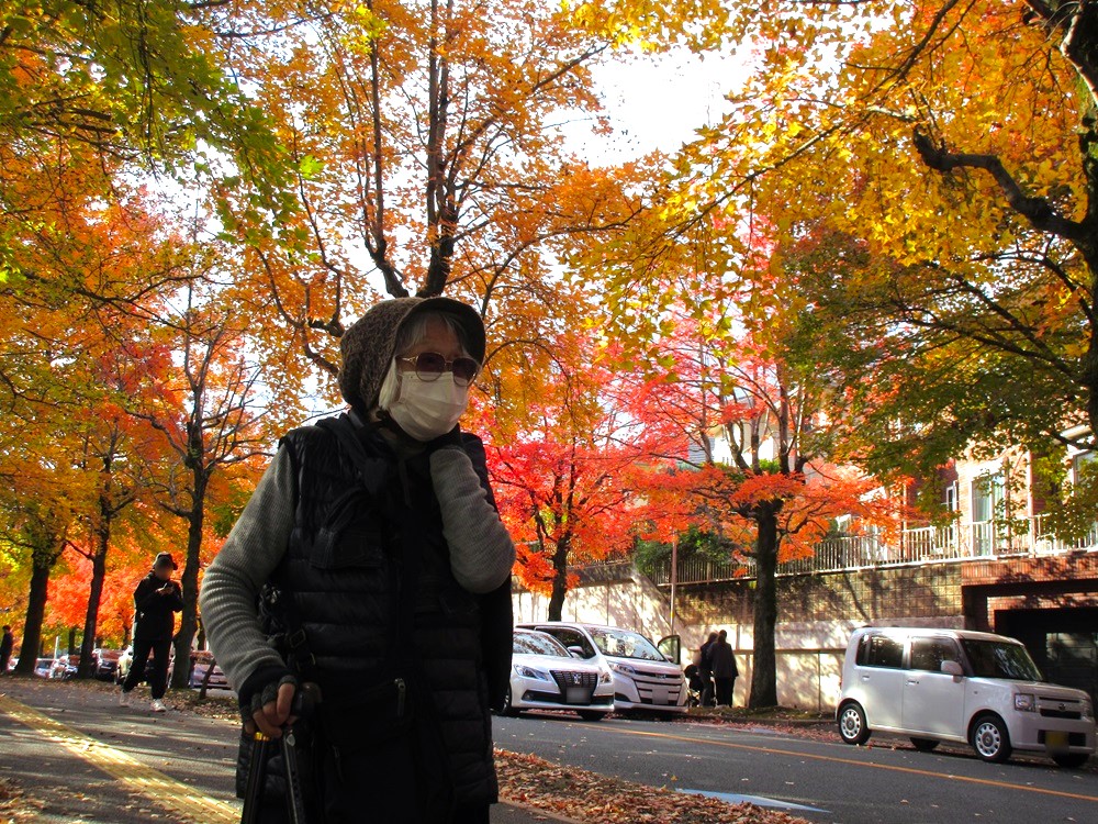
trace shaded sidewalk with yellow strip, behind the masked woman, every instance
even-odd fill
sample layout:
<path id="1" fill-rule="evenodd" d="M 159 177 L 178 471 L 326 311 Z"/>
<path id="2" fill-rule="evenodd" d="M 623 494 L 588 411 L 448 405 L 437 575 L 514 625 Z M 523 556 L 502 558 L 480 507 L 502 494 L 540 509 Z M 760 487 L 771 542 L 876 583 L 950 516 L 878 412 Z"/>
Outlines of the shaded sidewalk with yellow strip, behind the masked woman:
<path id="1" fill-rule="evenodd" d="M 147 708 L 141 700 L 119 706 L 114 691 L 0 679 L 0 773 L 21 790 L 14 809 L 22 815 L 0 812 L 43 824 L 238 822 L 237 725 Z M 517 804 L 492 811 L 493 824 L 567 821 Z"/>

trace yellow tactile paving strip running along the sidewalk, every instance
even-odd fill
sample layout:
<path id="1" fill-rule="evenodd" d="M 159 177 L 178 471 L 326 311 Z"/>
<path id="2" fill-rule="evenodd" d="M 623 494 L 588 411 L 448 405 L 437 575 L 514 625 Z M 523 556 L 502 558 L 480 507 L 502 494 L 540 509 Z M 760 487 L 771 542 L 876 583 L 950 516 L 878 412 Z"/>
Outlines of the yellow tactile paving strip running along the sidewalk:
<path id="1" fill-rule="evenodd" d="M 197 824 L 236 824 L 240 820 L 239 810 L 231 804 L 203 795 L 190 784 L 147 767 L 121 749 L 77 732 L 8 695 L 0 695 L 0 712 L 60 744 L 74 755 L 126 784 L 128 789 L 178 816 L 178 820 Z"/>

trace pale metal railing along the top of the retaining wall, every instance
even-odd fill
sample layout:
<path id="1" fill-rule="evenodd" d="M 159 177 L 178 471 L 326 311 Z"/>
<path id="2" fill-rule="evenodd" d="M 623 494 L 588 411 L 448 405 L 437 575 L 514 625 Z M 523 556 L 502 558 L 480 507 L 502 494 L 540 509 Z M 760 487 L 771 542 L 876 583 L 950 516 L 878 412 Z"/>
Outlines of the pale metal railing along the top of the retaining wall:
<path id="1" fill-rule="evenodd" d="M 1060 555 L 1079 550 L 1098 552 L 1098 523 L 1080 541 L 1065 542 L 1049 531 L 1042 514 L 1007 524 L 988 521 L 904 530 L 892 539 L 877 535 L 828 538 L 816 545 L 813 555 L 778 564 L 777 574 L 811 575 L 865 567 Z M 675 580 L 677 583 L 708 583 L 754 577 L 753 558 L 739 561 L 693 556 L 679 561 Z M 658 569 L 653 580 L 658 584 L 671 583 L 671 565 L 665 564 Z"/>

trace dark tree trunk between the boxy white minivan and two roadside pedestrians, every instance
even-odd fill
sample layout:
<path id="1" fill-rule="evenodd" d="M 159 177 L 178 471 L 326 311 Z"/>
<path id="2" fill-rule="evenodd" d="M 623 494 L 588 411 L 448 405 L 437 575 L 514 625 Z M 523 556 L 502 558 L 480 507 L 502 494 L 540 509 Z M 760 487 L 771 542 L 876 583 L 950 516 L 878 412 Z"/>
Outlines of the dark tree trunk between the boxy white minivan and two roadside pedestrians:
<path id="1" fill-rule="evenodd" d="M 751 694 L 748 708 L 757 710 L 777 705 L 777 667 L 774 655 L 774 628 L 777 624 L 777 511 L 763 505 L 755 524 L 754 655 L 751 664 Z"/>

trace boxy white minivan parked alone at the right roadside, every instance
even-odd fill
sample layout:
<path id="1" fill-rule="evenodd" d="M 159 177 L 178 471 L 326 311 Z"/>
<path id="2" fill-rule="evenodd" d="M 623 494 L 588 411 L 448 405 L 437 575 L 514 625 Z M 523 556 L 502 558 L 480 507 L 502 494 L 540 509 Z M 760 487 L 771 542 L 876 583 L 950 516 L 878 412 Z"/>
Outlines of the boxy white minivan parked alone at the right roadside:
<path id="1" fill-rule="evenodd" d="M 1013 638 L 966 630 L 855 630 L 836 721 L 848 744 L 898 733 L 920 750 L 968 743 L 985 761 L 1024 750 L 1079 767 L 1095 751 L 1086 692 L 1044 681 Z"/>

